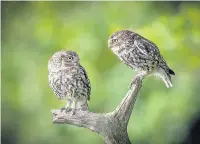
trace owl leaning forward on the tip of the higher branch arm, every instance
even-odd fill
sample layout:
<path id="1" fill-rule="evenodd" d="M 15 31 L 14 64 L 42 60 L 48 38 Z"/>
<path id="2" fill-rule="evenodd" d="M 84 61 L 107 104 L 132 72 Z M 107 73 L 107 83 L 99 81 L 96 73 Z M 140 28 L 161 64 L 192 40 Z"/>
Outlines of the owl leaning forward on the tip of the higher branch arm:
<path id="1" fill-rule="evenodd" d="M 171 75 L 175 73 L 153 42 L 135 32 L 120 30 L 109 37 L 108 46 L 122 62 L 138 71 L 142 78 L 153 74 L 161 77 L 167 88 L 173 86 Z"/>

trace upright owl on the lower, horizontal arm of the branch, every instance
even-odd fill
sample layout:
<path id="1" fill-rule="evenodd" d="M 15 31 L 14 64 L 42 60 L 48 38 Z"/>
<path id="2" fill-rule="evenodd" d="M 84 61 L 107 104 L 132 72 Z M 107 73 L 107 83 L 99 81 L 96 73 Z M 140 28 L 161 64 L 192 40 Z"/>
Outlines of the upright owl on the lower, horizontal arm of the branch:
<path id="1" fill-rule="evenodd" d="M 90 81 L 76 52 L 54 53 L 48 61 L 48 78 L 57 98 L 67 101 L 64 109 L 72 114 L 90 100 Z"/>

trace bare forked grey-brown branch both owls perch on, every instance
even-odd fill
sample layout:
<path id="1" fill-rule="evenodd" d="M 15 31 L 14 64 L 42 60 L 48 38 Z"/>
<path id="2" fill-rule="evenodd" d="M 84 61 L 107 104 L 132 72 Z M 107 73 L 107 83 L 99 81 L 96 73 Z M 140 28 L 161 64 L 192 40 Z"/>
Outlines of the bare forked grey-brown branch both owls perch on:
<path id="1" fill-rule="evenodd" d="M 127 125 L 141 86 L 142 78 L 136 76 L 126 96 L 113 112 L 94 113 L 77 109 L 74 115 L 70 115 L 57 109 L 51 111 L 53 123 L 88 128 L 100 134 L 106 144 L 131 144 Z"/>

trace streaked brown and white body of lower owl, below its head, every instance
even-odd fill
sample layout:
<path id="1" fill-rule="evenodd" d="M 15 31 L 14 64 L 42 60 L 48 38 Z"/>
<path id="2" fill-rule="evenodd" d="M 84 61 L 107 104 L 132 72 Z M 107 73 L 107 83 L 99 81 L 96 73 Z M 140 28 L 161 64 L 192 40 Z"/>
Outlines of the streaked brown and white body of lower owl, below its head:
<path id="1" fill-rule="evenodd" d="M 61 69 L 51 77 L 51 87 L 59 99 L 87 98 L 89 100 L 89 80 L 81 67 Z"/>

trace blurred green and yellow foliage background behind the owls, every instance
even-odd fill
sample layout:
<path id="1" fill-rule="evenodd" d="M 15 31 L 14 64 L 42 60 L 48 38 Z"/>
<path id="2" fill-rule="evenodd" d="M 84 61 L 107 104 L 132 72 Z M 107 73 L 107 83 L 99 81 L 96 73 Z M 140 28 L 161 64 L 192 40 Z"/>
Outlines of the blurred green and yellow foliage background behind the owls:
<path id="1" fill-rule="evenodd" d="M 89 109 L 109 112 L 136 74 L 108 49 L 109 35 L 130 29 L 160 48 L 175 71 L 174 87 L 144 80 L 128 132 L 134 144 L 200 143 L 199 2 L 2 2 L 3 144 L 102 144 L 84 128 L 52 124 L 61 108 L 47 62 L 73 49 L 92 85 Z"/>

